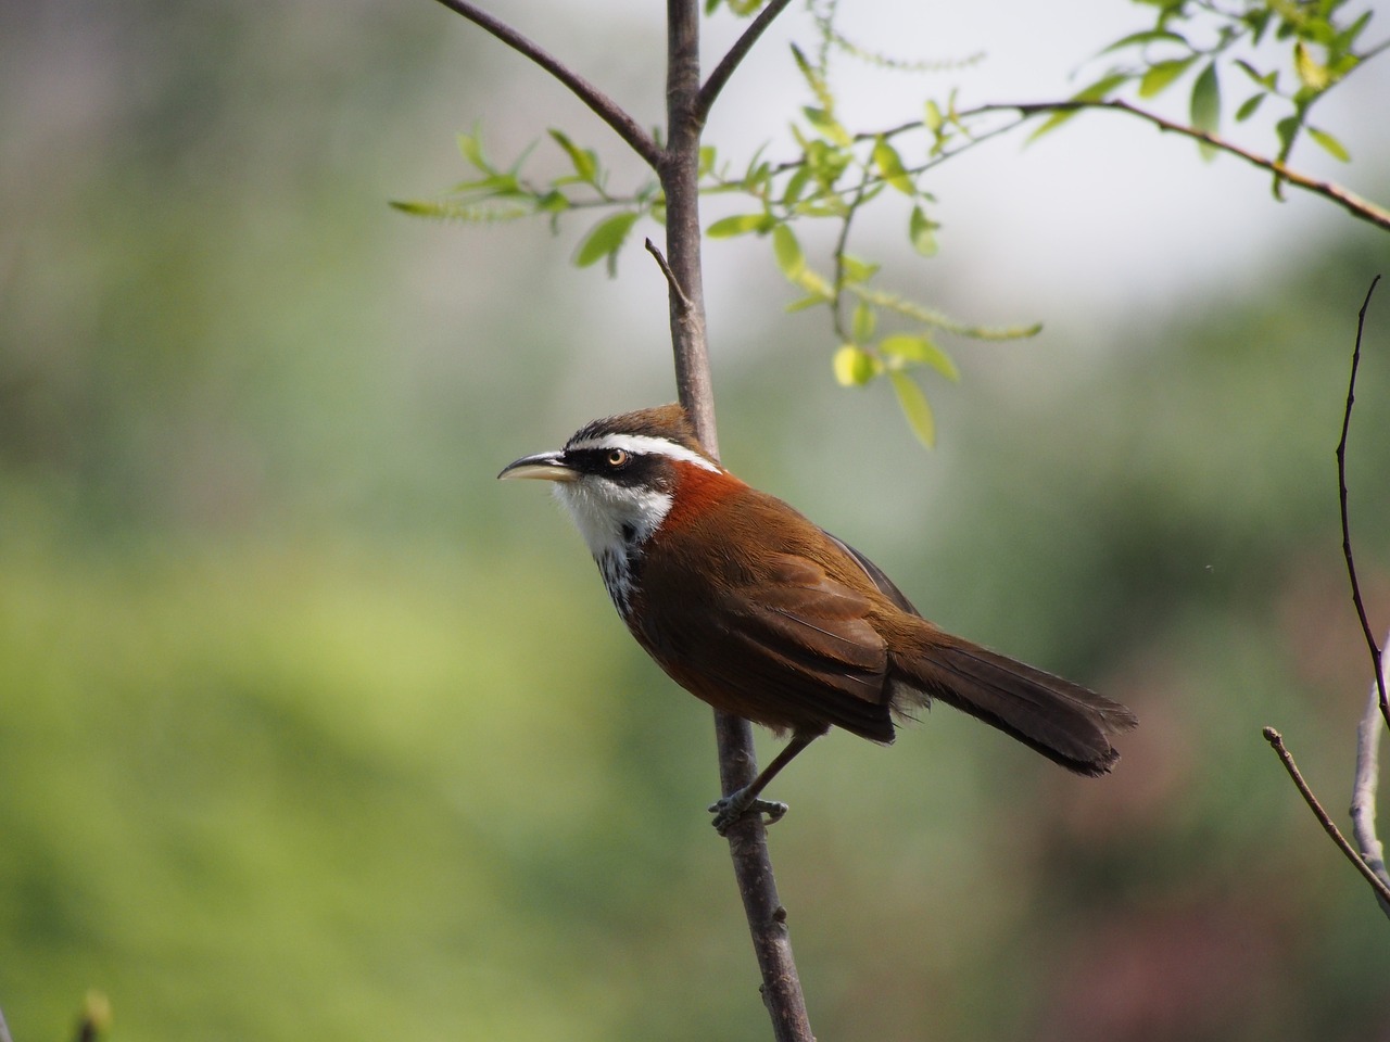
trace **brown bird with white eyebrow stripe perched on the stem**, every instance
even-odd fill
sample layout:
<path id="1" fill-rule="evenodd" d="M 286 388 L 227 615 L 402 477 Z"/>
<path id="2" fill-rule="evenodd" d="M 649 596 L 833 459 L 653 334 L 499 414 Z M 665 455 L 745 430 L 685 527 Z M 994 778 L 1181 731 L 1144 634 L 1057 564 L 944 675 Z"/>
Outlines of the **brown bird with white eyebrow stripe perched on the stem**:
<path id="1" fill-rule="evenodd" d="M 1118 702 L 929 622 L 878 565 L 726 470 L 680 404 L 595 420 L 500 479 L 553 482 L 642 649 L 716 710 L 790 735 L 709 810 L 720 834 L 831 727 L 883 745 L 942 702 L 1081 775 L 1109 772 Z"/>

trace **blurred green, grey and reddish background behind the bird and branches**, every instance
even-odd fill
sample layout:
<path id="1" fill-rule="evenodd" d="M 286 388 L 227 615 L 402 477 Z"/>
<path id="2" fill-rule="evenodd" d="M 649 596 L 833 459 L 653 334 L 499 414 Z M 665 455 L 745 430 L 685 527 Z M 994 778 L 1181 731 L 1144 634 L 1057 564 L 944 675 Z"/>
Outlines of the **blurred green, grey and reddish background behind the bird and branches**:
<path id="1" fill-rule="evenodd" d="M 955 82 L 1070 93 L 1147 17 L 903 7 L 845 28 L 988 57 L 923 79 L 844 65 L 852 124 Z M 657 121 L 657 7 L 495 10 Z M 813 40 L 802 14 L 730 86 L 710 133 L 731 158 L 803 101 L 790 39 Z M 1390 197 L 1387 96 L 1372 67 L 1320 115 L 1350 169 L 1301 158 Z M 17 1042 L 67 1036 L 92 989 L 113 1039 L 767 1036 L 702 811 L 709 713 L 644 660 L 541 490 L 493 481 L 671 397 L 664 288 L 635 249 L 612 281 L 571 268 L 580 225 L 388 210 L 464 176 L 453 133 L 474 121 L 499 158 L 564 126 L 632 172 L 563 90 L 427 0 L 0 6 Z M 1268 150 L 1268 126 L 1248 135 Z M 933 188 L 938 258 L 910 260 L 892 220 L 863 250 L 965 320 L 1044 332 L 955 345 L 926 453 L 887 388 L 833 385 L 830 333 L 781 313 L 766 243 L 714 243 L 724 457 L 942 625 L 1144 724 L 1102 782 L 947 710 L 891 750 L 817 743 L 771 834 L 812 1023 L 1390 1039 L 1387 923 L 1259 734 L 1346 806 L 1369 665 L 1333 447 L 1390 238 L 1104 114 Z M 1350 463 L 1382 631 L 1387 292 Z"/>

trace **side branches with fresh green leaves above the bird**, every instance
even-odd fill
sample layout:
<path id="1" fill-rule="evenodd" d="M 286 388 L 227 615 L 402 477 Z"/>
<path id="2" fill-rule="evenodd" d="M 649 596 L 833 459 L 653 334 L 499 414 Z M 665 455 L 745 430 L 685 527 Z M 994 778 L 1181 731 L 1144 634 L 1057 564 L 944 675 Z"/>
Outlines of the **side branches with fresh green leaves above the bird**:
<path id="1" fill-rule="evenodd" d="M 478 11 L 470 0 L 441 0 L 495 36 L 532 57 L 557 75 L 600 118 L 648 163 L 655 178 L 617 192 L 599 154 L 575 144 L 557 129 L 549 132 L 569 160 L 570 169 L 548 181 L 524 176 L 523 167 L 534 147 L 509 167 L 492 163 L 475 129 L 460 135 L 460 151 L 470 165 L 468 181 L 435 200 L 393 203 L 398 208 L 448 221 L 493 222 L 528 215 L 545 215 L 557 232 L 569 213 L 607 211 L 592 222 L 575 246 L 573 261 L 591 267 L 605 261 L 610 274 L 617 258 L 644 218 L 666 221 L 666 195 L 660 181 L 669 146 L 632 124 L 602 92 L 582 81 L 535 43 Z M 703 126 L 710 107 L 730 76 L 767 26 L 791 0 L 705 0 L 705 13 L 727 7 L 738 17 L 752 18 L 742 36 L 699 86 L 688 118 Z M 709 196 L 741 196 L 751 206 L 742 213 L 713 221 L 705 235 L 712 239 L 758 235 L 770 238 L 778 270 L 802 296 L 788 310 L 824 307 L 838 343 L 831 370 L 844 386 L 863 386 L 887 378 L 913 433 L 924 445 L 935 440 L 930 403 L 915 379 L 935 372 L 959 379 L 959 367 L 942 347 L 942 333 L 977 340 L 1027 338 L 1038 324 L 987 326 L 959 321 L 920 300 L 912 300 L 876 283 L 881 265 L 851 251 L 851 231 L 856 218 L 888 192 L 909 203 L 906 239 L 920 257 L 938 251 L 937 199 L 926 189 L 927 175 L 940 164 L 1011 133 L 1038 117 L 1045 119 L 1031 138 L 1047 133 L 1081 111 L 1105 110 L 1130 115 L 1195 140 L 1204 156 L 1226 153 L 1273 175 L 1276 197 L 1286 186 L 1320 196 L 1343 210 L 1390 231 L 1390 210 L 1368 201 L 1347 188 L 1300 172 L 1289 165 L 1295 143 L 1307 136 L 1339 160 L 1350 160 L 1346 146 L 1327 129 L 1314 125 L 1309 115 L 1319 100 L 1368 60 L 1390 47 L 1390 42 L 1364 47 L 1361 39 L 1371 11 L 1347 17 L 1347 0 L 1241 0 L 1222 6 L 1213 0 L 1140 0 L 1154 10 L 1150 28 L 1131 32 L 1099 51 L 1119 58 L 1104 75 L 1069 99 L 1055 101 L 991 103 L 960 108 L 956 92 L 945 99 L 927 99 L 920 119 L 881 129 L 851 131 L 837 114 L 831 78 L 831 56 L 890 69 L 941 71 L 979 61 L 905 60 L 881 54 L 849 40 L 837 26 L 838 0 L 808 0 L 819 46 L 806 53 L 792 47 L 792 58 L 810 94 L 810 104 L 791 125 L 796 154 L 781 161 L 759 150 L 746 164 L 721 161 L 712 146 L 699 147 L 695 190 Z M 1261 154 L 1219 135 L 1222 124 L 1222 78 L 1237 75 L 1248 96 L 1234 114 L 1244 124 L 1257 111 L 1282 106 L 1275 122 L 1276 150 Z M 1188 121 L 1159 115 L 1120 97 L 1133 90 L 1140 101 L 1158 99 L 1191 76 Z M 1012 121 L 998 122 L 1001 113 Z M 916 139 L 916 140 L 915 140 Z M 1031 139 L 1030 139 L 1031 140 Z M 838 224 L 834 246 L 823 264 L 808 258 L 794 231 L 806 221 Z"/>

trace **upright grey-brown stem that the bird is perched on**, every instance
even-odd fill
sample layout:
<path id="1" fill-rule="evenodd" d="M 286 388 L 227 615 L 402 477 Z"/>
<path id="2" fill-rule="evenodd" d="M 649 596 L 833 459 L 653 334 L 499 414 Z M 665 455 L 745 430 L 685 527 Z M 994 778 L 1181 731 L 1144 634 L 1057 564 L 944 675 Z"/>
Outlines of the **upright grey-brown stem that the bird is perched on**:
<path id="1" fill-rule="evenodd" d="M 696 436 L 717 457 L 699 226 L 699 140 L 713 93 L 703 100 L 701 97 L 698 0 L 667 0 L 666 11 L 667 142 L 659 174 L 666 193 L 669 264 L 663 270 L 670 282 L 676 386 L 695 424 Z M 733 64 L 724 71 L 724 78 Z M 720 785 L 723 792 L 734 792 L 758 774 L 752 727 L 746 720 L 716 711 L 714 738 Z M 777 879 L 767 853 L 767 829 L 760 816 L 746 817 L 728 829 L 728 850 L 763 978 L 763 1004 L 773 1021 L 773 1036 L 777 1042 L 813 1042 L 787 932 L 787 910 L 777 896 Z"/>

